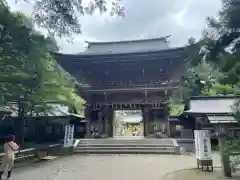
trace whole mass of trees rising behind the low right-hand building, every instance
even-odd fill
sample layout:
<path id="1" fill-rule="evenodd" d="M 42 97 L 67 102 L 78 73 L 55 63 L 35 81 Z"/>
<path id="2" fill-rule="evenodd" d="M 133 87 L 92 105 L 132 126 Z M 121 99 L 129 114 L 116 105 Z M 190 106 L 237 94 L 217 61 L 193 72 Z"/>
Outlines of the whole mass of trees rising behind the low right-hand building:
<path id="1" fill-rule="evenodd" d="M 203 36 L 189 39 L 187 72 L 172 96 L 175 104 L 190 96 L 240 95 L 239 13 L 240 2 L 222 0 L 219 18 L 208 17 Z M 239 116 L 239 102 L 233 109 Z"/>

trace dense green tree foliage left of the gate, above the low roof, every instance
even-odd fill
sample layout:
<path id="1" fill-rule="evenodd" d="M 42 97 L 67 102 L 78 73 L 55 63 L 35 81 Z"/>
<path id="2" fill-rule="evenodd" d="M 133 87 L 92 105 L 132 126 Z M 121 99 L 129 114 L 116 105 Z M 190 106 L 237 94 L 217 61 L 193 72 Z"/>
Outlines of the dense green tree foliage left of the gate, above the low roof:
<path id="1" fill-rule="evenodd" d="M 45 113 L 48 102 L 78 106 L 74 81 L 50 55 L 58 47 L 54 39 L 36 31 L 20 13 L 0 6 L 1 103 L 16 102 L 25 115 Z M 27 22 L 27 26 L 25 23 Z"/>

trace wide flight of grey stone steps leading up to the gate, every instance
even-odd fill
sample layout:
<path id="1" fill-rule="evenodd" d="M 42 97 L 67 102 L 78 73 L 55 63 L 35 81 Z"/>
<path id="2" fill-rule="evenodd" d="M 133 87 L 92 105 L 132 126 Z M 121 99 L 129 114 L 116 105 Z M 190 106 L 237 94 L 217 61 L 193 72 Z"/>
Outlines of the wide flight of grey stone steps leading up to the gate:
<path id="1" fill-rule="evenodd" d="M 76 153 L 158 153 L 175 154 L 173 139 L 109 138 L 82 139 L 74 149 Z"/>

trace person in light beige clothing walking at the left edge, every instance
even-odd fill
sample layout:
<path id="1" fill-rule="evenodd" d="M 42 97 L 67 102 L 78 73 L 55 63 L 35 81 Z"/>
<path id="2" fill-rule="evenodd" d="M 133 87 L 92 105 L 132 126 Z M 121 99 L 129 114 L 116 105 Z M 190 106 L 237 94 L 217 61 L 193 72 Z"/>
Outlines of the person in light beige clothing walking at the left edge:
<path id="1" fill-rule="evenodd" d="M 15 159 L 15 151 L 19 149 L 19 146 L 14 142 L 15 136 L 7 138 L 4 144 L 4 157 L 0 166 L 0 179 L 2 179 L 3 173 L 7 171 L 7 179 L 11 178 L 12 166 Z"/>

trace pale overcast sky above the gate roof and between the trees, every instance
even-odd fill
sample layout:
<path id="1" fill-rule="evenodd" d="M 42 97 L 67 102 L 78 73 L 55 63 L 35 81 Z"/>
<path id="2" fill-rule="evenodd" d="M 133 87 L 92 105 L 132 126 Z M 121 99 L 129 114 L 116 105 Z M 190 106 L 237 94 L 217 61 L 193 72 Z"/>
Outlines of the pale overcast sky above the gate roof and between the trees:
<path id="1" fill-rule="evenodd" d="M 8 0 L 13 10 L 31 14 L 32 6 L 15 4 Z M 82 34 L 74 42 L 58 39 L 64 53 L 84 50 L 84 40 L 114 41 L 158 38 L 171 35 L 170 45 L 181 46 L 191 36 L 199 38 L 206 25 L 207 16 L 216 16 L 220 0 L 122 0 L 126 17 L 93 15 L 81 18 Z"/>

